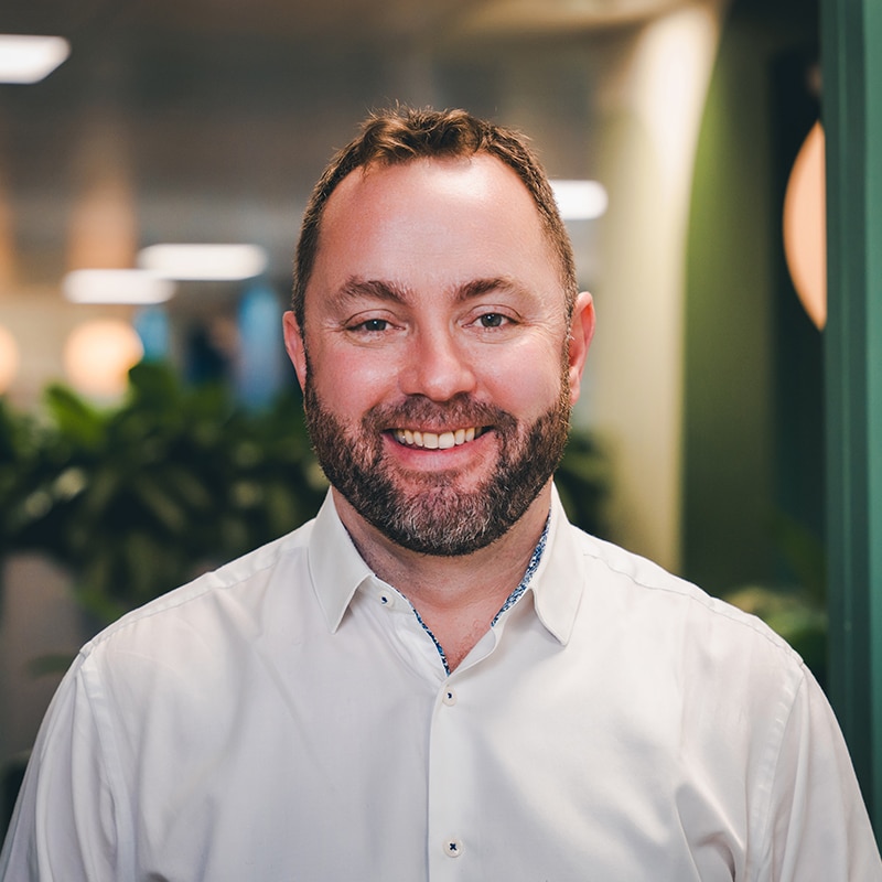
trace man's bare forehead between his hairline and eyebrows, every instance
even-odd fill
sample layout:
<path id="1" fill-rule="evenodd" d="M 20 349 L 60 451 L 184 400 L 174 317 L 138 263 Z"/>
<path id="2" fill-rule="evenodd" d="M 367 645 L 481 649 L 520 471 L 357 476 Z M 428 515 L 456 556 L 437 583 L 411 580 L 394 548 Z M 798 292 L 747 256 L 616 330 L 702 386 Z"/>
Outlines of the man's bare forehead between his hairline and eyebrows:
<path id="1" fill-rule="evenodd" d="M 495 157 L 356 169 L 329 198 L 310 287 L 432 272 L 558 279 L 529 191 Z"/>

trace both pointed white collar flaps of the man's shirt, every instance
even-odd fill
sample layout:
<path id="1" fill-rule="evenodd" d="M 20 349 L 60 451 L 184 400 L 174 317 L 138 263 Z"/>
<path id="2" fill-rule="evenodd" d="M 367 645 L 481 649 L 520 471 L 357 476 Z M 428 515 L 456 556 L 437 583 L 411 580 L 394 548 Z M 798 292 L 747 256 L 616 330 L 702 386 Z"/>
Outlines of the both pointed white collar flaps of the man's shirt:
<path id="1" fill-rule="evenodd" d="M 545 548 L 525 589 L 533 592 L 536 615 L 561 644 L 572 633 L 582 596 L 582 555 L 556 487 L 546 527 Z M 340 627 L 358 587 L 374 578 L 337 515 L 331 491 L 315 518 L 309 545 L 312 583 L 331 632 Z"/>

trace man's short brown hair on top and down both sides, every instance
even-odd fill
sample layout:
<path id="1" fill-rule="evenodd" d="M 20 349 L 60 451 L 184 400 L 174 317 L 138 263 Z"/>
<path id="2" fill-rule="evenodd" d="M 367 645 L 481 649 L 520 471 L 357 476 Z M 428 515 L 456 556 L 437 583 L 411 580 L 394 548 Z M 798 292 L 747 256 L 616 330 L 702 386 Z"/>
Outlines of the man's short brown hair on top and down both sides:
<path id="1" fill-rule="evenodd" d="M 394 165 L 416 159 L 447 159 L 488 153 L 508 165 L 524 182 L 541 218 L 542 228 L 560 260 L 568 315 L 576 301 L 576 261 L 567 228 L 558 212 L 551 185 L 526 139 L 465 110 L 395 107 L 372 114 L 361 135 L 331 160 L 312 191 L 294 259 L 292 308 L 303 330 L 306 284 L 315 263 L 319 235 L 327 200 L 349 172 L 368 165 Z"/>

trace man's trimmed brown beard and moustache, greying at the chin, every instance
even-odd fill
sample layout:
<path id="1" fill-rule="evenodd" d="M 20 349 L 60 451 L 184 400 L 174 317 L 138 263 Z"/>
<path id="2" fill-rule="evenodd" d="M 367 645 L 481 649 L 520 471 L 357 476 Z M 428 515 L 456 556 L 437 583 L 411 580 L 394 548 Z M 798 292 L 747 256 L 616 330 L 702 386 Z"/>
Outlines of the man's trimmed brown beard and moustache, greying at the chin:
<path id="1" fill-rule="evenodd" d="M 324 407 L 309 381 L 312 369 L 306 376 L 306 427 L 327 480 L 387 538 L 423 555 L 469 555 L 505 535 L 555 473 L 567 444 L 571 406 L 566 372 L 557 401 L 529 426 L 465 395 L 443 405 L 413 396 L 398 406 L 372 408 L 356 430 L 347 430 Z M 406 488 L 384 456 L 384 433 L 423 424 L 492 427 L 499 448 L 493 474 L 466 490 L 458 482 L 469 475 L 456 470 L 406 473 Z"/>

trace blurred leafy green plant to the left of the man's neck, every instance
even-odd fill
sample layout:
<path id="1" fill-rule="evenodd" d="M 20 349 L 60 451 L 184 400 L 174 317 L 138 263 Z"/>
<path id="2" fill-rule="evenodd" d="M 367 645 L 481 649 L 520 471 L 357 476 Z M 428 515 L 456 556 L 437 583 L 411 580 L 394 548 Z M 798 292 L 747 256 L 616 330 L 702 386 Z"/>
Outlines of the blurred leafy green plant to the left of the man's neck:
<path id="1" fill-rule="evenodd" d="M 42 422 L 2 411 L 2 546 L 66 567 L 100 622 L 292 529 L 324 494 L 293 392 L 250 413 L 143 364 L 117 408 L 57 385 L 44 405 Z"/>

